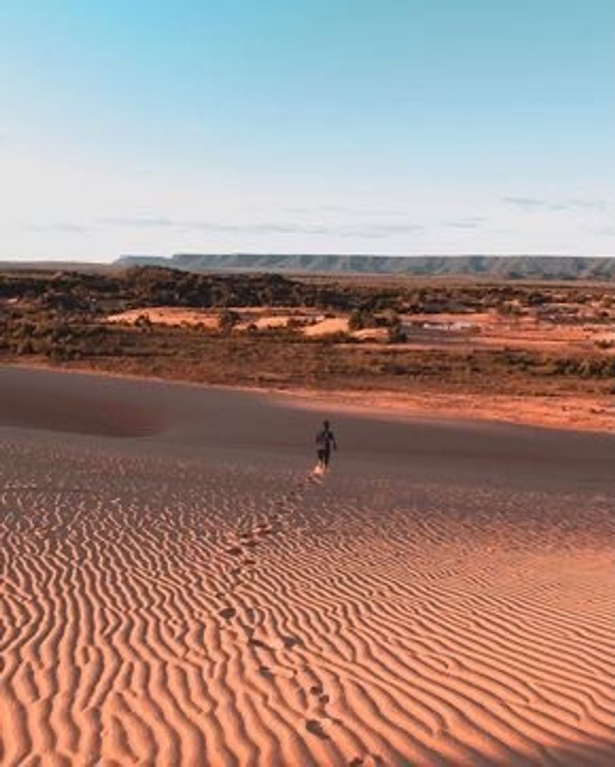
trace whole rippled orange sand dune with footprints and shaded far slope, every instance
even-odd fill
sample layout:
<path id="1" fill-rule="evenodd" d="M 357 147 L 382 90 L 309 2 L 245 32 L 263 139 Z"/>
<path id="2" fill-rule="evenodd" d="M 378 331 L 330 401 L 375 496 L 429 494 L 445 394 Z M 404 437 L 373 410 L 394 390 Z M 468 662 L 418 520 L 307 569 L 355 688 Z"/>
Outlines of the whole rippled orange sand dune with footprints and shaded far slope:
<path id="1" fill-rule="evenodd" d="M 0 368 L 0 764 L 607 765 L 608 435 Z"/>

